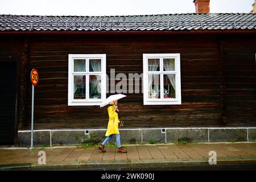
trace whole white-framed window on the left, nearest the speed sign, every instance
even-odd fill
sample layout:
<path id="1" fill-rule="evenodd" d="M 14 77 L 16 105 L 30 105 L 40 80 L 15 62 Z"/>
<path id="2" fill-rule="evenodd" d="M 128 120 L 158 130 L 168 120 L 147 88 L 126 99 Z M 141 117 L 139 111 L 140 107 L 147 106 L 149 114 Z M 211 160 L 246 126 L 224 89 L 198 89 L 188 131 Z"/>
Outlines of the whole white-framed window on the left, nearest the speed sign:
<path id="1" fill-rule="evenodd" d="M 101 105 L 106 99 L 106 55 L 68 55 L 68 106 Z"/>

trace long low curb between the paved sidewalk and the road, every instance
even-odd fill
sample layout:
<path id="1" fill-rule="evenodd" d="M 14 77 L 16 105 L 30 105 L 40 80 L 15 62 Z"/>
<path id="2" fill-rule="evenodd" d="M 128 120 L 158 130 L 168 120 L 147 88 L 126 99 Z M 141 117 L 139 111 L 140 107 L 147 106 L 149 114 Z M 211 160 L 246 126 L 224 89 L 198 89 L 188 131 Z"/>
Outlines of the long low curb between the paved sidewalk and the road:
<path id="1" fill-rule="evenodd" d="M 217 158 L 217 164 L 256 163 L 255 156 Z M 89 160 L 78 162 L 55 162 L 46 165 L 34 164 L 6 164 L 0 166 L 0 170 L 60 170 L 60 169 L 90 169 L 111 167 L 150 167 L 168 166 L 174 164 L 208 164 L 208 158 L 201 159 L 138 159 L 138 160 L 106 160 L 90 162 Z"/>

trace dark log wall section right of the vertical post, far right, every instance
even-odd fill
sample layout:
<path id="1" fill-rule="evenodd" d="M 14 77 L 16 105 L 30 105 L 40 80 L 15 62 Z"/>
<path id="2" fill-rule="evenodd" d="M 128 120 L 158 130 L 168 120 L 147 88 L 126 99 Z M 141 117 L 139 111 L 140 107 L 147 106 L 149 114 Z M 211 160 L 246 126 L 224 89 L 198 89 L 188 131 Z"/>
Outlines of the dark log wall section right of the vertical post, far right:
<path id="1" fill-rule="evenodd" d="M 226 112 L 232 125 L 256 123 L 256 39 L 225 36 Z"/>

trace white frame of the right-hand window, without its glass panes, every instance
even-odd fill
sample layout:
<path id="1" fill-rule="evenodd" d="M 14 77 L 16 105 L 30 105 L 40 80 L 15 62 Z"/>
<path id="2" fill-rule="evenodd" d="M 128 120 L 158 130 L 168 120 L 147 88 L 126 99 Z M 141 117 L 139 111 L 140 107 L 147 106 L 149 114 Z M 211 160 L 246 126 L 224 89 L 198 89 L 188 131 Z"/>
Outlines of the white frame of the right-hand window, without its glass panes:
<path id="1" fill-rule="evenodd" d="M 175 59 L 175 71 L 163 71 L 163 59 Z M 148 71 L 148 59 L 160 59 L 160 71 Z M 148 98 L 148 74 L 160 75 L 160 90 L 164 88 L 163 75 L 175 74 L 175 97 Z M 143 105 L 181 105 L 180 53 L 143 53 Z"/>

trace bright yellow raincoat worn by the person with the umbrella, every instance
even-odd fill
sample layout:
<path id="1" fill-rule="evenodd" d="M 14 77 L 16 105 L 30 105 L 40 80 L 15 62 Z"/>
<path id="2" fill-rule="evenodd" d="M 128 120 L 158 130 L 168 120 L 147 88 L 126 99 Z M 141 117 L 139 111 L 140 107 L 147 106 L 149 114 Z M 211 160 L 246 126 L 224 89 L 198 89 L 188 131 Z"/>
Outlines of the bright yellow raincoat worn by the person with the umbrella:
<path id="1" fill-rule="evenodd" d="M 108 107 L 108 113 L 109 113 L 109 123 L 108 123 L 108 130 L 106 131 L 106 134 L 105 134 L 106 137 L 112 134 L 119 134 L 118 123 L 120 121 L 118 119 L 117 112 L 115 112 L 114 106 Z"/>

